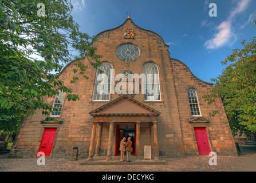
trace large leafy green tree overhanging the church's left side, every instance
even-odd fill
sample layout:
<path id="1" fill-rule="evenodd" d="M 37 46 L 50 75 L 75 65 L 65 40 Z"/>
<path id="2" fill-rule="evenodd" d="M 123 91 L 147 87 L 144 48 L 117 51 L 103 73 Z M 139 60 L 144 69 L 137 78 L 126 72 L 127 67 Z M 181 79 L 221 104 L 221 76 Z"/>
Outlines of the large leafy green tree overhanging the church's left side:
<path id="1" fill-rule="evenodd" d="M 0 2 L 2 124 L 20 121 L 27 114 L 34 114 L 37 109 L 49 116 L 53 108 L 44 101 L 44 97 L 53 97 L 58 94 L 58 89 L 68 93 L 69 101 L 79 100 L 72 93 L 72 88 L 64 85 L 58 73 L 66 63 L 73 61 L 77 66 L 73 73 L 88 78 L 85 75 L 87 67 L 82 60 L 88 58 L 94 68 L 101 64 L 102 56 L 96 54 L 96 48 L 91 44 L 95 38 L 79 31 L 79 25 L 70 15 L 72 9 L 68 0 Z M 34 55 L 43 59 L 37 59 Z M 70 82 L 74 83 L 77 79 L 74 75 Z M 20 115 L 15 116 L 16 112 Z M 54 119 L 46 117 L 46 120 Z"/>

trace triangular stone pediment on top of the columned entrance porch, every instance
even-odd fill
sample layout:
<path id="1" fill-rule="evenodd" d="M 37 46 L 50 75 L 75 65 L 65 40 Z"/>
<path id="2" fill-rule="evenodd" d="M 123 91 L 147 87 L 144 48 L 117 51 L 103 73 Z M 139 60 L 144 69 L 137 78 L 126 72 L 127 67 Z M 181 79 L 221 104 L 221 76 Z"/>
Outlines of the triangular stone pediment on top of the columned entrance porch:
<path id="1" fill-rule="evenodd" d="M 89 112 L 92 116 L 159 116 L 157 110 L 126 94 Z"/>

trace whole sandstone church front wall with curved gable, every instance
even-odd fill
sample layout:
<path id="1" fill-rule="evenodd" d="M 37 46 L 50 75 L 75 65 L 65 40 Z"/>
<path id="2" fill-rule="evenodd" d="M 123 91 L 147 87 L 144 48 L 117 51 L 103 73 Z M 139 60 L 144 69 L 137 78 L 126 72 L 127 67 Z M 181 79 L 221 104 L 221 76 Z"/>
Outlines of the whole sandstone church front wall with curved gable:
<path id="1" fill-rule="evenodd" d="M 123 30 L 127 28 L 134 30 L 134 38 L 124 39 Z M 129 62 L 117 58 L 116 49 L 123 43 L 133 43 L 139 47 L 139 58 Z M 227 121 L 227 117 L 221 100 L 207 105 L 202 99 L 202 96 L 212 89 L 212 84 L 196 78 L 183 62 L 170 58 L 168 45 L 160 35 L 141 29 L 131 18 L 127 18 L 119 27 L 98 34 L 93 46 L 97 47 L 97 54 L 103 55 L 101 62 L 111 63 L 115 74 L 123 73 L 124 70 L 141 74 L 144 63 L 153 62 L 157 65 L 161 100 L 144 101 L 143 94 L 134 94 L 132 99 L 128 97 L 124 100 L 131 99 L 134 105 L 140 105 L 145 109 L 149 106 L 150 109 L 160 112 L 160 115 L 153 117 L 149 114 L 132 117 L 124 114 L 116 117 L 90 115 L 89 112 L 116 100 L 120 95 L 111 94 L 107 102 L 93 101 L 96 69 L 85 59 L 83 62 L 88 66 L 85 75 L 89 79 L 77 75 L 78 81 L 70 84 L 72 75 L 69 73 L 76 67 L 71 62 L 64 68 L 60 78 L 66 86 L 72 87 L 73 93 L 78 94 L 80 100 L 73 102 L 65 99 L 60 121 L 57 122 L 44 122 L 45 116 L 42 116 L 40 111 L 25 118 L 19 128 L 10 157 L 36 157 L 45 128 L 57 128 L 50 157 L 69 158 L 73 147 L 78 147 L 78 157 L 88 158 L 94 155 L 97 148 L 100 156 L 109 154 L 115 156 L 117 128 L 128 126 L 134 129 L 136 125 L 139 128 L 139 132 L 135 132 L 139 133 L 139 139 L 137 138 L 139 145 L 136 144 L 138 157 L 143 156 L 144 145 L 152 145 L 152 155 L 155 157 L 199 155 L 195 127 L 206 128 L 211 151 L 219 155 L 237 156 L 229 124 L 223 123 Z M 199 118 L 191 116 L 188 88 L 195 89 L 198 96 L 202 114 Z M 54 98 L 47 99 L 49 104 L 52 104 L 53 100 Z M 220 110 L 220 112 L 215 117 L 210 117 L 212 110 Z M 112 131 L 109 130 L 110 127 L 113 128 Z M 113 134 L 109 136 L 112 132 Z M 112 144 L 109 145 L 109 142 Z"/>

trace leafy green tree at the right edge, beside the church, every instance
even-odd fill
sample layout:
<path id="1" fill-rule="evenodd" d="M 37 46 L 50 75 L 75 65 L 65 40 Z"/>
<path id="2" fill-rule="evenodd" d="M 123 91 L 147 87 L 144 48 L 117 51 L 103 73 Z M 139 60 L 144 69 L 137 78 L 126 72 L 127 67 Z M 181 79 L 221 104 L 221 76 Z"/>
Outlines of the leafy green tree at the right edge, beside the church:
<path id="1" fill-rule="evenodd" d="M 254 20 L 256 25 L 256 21 Z M 222 99 L 227 118 L 233 134 L 245 132 L 247 135 L 256 132 L 256 37 L 250 42 L 242 41 L 243 49 L 233 50 L 223 65 L 230 65 L 219 77 L 211 79 L 215 89 L 204 96 L 208 104 Z M 218 111 L 213 111 L 214 116 Z"/>

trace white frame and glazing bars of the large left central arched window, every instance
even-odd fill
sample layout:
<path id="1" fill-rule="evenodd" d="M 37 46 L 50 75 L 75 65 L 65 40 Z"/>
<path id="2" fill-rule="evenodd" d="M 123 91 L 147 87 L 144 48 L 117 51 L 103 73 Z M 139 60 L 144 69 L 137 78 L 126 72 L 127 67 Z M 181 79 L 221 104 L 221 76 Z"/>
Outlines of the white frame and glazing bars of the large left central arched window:
<path id="1" fill-rule="evenodd" d="M 109 66 L 111 66 L 111 67 L 109 67 L 109 71 L 110 71 L 110 82 L 108 82 L 108 83 L 104 83 L 104 82 L 102 82 L 103 80 L 101 80 L 101 82 L 99 81 L 99 80 L 97 80 L 97 76 L 99 75 L 99 74 L 101 74 L 100 72 L 99 72 L 99 69 L 100 70 L 104 70 L 103 69 L 103 67 L 104 67 L 104 65 L 105 64 L 108 64 Z M 103 74 L 103 73 L 102 73 Z M 94 79 L 94 88 L 93 88 L 93 94 L 92 94 L 92 101 L 95 101 L 95 102 L 106 102 L 106 101 L 110 101 L 110 94 L 111 94 L 111 81 L 112 81 L 112 77 L 113 77 L 113 72 L 112 72 L 112 65 L 111 65 L 111 63 L 109 63 L 109 62 L 102 62 L 102 64 L 101 64 L 101 66 L 99 66 L 98 68 L 97 68 L 97 71 L 96 71 L 96 75 L 95 75 L 95 79 Z M 108 100 L 94 100 L 94 92 L 95 92 L 95 90 L 97 90 L 97 85 L 96 84 L 99 84 L 99 83 L 101 83 L 101 84 L 108 84 L 109 85 L 109 97 L 108 97 Z M 102 94 L 101 94 L 102 95 Z"/>

